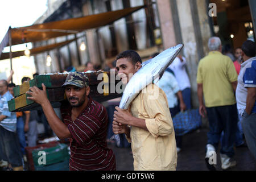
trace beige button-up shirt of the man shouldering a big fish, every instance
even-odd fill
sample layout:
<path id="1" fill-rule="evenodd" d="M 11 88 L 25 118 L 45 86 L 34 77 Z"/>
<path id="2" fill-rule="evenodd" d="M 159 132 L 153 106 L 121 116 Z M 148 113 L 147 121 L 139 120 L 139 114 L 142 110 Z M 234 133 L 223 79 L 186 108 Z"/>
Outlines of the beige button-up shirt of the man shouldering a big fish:
<path id="1" fill-rule="evenodd" d="M 174 126 L 163 90 L 154 84 L 148 85 L 131 103 L 130 112 L 134 117 L 145 119 L 148 129 L 131 126 L 127 139 L 131 142 L 134 170 L 176 170 Z"/>

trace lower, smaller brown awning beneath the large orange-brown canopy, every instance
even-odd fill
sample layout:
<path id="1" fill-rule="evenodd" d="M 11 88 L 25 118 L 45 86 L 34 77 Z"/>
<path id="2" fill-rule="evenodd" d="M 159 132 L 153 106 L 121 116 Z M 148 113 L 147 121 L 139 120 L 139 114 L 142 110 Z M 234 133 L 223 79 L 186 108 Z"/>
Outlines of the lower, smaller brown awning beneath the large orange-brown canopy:
<path id="1" fill-rule="evenodd" d="M 48 45 L 48 46 L 32 48 L 32 49 L 30 49 L 30 55 L 33 56 L 33 55 L 36 55 L 38 53 L 51 51 L 52 49 L 63 47 L 65 45 L 73 42 L 74 40 L 76 40 L 76 39 L 67 40 L 65 42 L 51 44 L 51 45 Z M 13 54 L 13 56 L 12 56 L 13 58 L 25 55 L 24 51 L 15 51 L 15 52 L 12 52 L 12 54 Z M 3 59 L 10 59 L 10 53 L 9 52 L 3 52 L 2 55 L 0 56 L 0 60 L 3 60 Z"/>

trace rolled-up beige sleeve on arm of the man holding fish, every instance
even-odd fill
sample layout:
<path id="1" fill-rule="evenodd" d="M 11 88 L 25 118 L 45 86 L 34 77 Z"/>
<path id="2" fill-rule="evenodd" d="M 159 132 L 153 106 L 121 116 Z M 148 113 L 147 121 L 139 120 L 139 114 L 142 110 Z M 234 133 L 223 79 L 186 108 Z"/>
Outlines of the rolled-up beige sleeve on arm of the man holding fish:
<path id="1" fill-rule="evenodd" d="M 152 90 L 154 89 L 154 90 Z M 150 118 L 145 119 L 148 131 L 157 138 L 168 136 L 174 131 L 170 110 L 167 104 L 166 94 L 158 86 L 150 86 L 143 93 L 144 108 Z M 152 96 L 154 93 L 154 96 Z"/>

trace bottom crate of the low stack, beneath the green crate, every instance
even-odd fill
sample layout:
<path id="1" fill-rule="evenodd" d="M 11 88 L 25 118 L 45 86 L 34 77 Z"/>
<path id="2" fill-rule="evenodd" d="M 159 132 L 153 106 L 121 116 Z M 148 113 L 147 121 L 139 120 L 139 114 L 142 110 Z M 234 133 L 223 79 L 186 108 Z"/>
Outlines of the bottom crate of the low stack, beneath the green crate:
<path id="1" fill-rule="evenodd" d="M 35 166 L 36 171 L 69 171 L 69 158 L 63 162 L 51 164 L 51 165 L 40 165 Z"/>

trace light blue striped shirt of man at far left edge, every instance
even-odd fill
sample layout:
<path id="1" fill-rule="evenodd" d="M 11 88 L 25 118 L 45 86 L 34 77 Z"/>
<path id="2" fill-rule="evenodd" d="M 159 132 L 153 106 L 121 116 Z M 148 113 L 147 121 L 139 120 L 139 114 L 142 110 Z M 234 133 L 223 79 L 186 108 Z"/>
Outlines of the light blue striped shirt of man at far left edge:
<path id="1" fill-rule="evenodd" d="M 0 122 L 0 126 L 4 129 L 16 132 L 16 113 L 11 113 L 8 107 L 8 101 L 13 98 L 11 93 L 7 91 L 3 96 L 0 95 L 0 115 L 6 115 L 7 117 Z"/>

